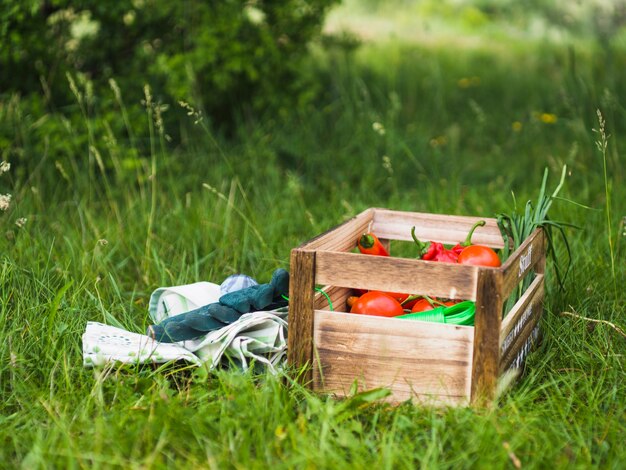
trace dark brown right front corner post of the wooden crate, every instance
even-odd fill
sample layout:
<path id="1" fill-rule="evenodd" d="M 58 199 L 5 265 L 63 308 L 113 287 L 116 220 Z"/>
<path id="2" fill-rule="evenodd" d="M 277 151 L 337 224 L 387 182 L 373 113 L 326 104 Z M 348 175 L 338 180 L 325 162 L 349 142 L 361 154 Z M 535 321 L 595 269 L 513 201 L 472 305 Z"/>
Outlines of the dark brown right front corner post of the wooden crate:
<path id="1" fill-rule="evenodd" d="M 501 273 L 481 269 L 476 294 L 472 393 L 474 404 L 491 402 L 496 393 L 500 359 L 500 321 L 503 298 Z"/>

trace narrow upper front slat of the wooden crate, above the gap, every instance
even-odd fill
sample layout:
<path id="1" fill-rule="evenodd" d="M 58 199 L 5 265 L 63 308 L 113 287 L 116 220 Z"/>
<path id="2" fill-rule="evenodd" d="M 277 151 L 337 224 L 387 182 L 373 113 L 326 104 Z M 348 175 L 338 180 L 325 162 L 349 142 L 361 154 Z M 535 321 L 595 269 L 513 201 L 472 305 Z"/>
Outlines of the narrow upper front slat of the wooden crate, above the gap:
<path id="1" fill-rule="evenodd" d="M 450 299 L 476 299 L 478 270 L 476 266 L 359 253 L 320 251 L 315 259 L 318 284 Z"/>

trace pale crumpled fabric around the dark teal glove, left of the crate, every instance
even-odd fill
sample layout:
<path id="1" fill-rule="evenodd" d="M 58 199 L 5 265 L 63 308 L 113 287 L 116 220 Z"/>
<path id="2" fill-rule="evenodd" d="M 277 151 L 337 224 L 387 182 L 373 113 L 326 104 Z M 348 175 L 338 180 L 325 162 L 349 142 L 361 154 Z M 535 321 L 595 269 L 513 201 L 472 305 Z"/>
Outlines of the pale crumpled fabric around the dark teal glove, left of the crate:
<path id="1" fill-rule="evenodd" d="M 273 280 L 278 289 L 283 291 L 288 290 L 289 285 L 288 274 L 286 277 L 285 274 L 286 271 L 284 274 L 278 272 L 277 278 Z M 149 304 L 152 321 L 187 315 L 190 328 L 199 327 L 206 318 L 192 312 L 204 308 L 211 317 L 217 319 L 215 324 L 219 322 L 221 327 L 194 339 L 165 343 L 150 336 L 88 322 L 83 334 L 83 364 L 92 367 L 109 362 L 143 364 L 184 360 L 213 368 L 228 361 L 247 369 L 253 360 L 275 372 L 286 354 L 287 309 L 241 314 L 218 302 L 223 295 L 242 290 L 241 286 L 245 286 L 245 289 L 255 285 L 257 283 L 254 279 L 237 274 L 227 278 L 221 285 L 196 282 L 156 289 Z M 270 307 L 272 304 L 266 308 L 269 310 Z"/>

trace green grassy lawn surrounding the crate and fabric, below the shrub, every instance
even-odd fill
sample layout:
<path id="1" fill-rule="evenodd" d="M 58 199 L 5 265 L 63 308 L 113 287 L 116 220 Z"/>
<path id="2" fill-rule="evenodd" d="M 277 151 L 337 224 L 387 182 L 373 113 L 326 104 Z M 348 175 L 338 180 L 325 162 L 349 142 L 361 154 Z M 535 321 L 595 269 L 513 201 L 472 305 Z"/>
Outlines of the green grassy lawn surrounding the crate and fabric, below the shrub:
<path id="1" fill-rule="evenodd" d="M 626 57 L 505 46 L 320 53 L 311 73 L 325 93 L 311 109 L 242 123 L 228 141 L 192 116 L 176 148 L 154 127 L 134 136 L 153 143 L 141 160 L 126 131 L 92 142 L 97 152 L 36 154 L 39 120 L 64 121 L 2 102 L 15 140 L 0 176 L 0 193 L 13 194 L 0 213 L 0 466 L 623 467 L 625 338 L 559 314 L 624 325 Z M 605 158 L 597 109 L 611 134 Z M 114 127 L 120 116 L 91 122 Z M 68 142 L 83 126 L 66 126 Z M 41 163 L 24 175 L 24 159 Z M 511 189 L 520 203 L 534 198 L 544 167 L 554 187 L 564 163 L 563 196 L 591 209 L 553 207 L 581 226 L 569 232 L 567 290 L 548 279 L 545 341 L 493 408 L 336 401 L 270 376 L 184 365 L 82 367 L 86 321 L 142 331 L 159 286 L 234 272 L 266 281 L 292 247 L 370 206 L 510 211 Z"/>

